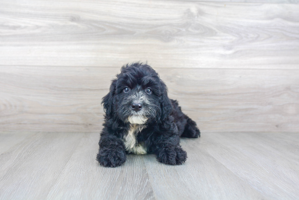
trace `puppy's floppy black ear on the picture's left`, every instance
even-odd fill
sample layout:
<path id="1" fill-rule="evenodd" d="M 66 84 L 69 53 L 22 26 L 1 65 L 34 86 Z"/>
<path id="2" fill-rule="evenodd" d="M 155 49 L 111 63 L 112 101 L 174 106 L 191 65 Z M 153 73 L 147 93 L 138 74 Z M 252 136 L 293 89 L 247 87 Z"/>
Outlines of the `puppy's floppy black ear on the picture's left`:
<path id="1" fill-rule="evenodd" d="M 111 116 L 113 114 L 113 106 L 115 105 L 115 89 L 116 89 L 116 81 L 117 79 L 112 80 L 110 85 L 109 93 L 103 97 L 102 103 L 104 106 L 104 111 L 106 116 Z"/>

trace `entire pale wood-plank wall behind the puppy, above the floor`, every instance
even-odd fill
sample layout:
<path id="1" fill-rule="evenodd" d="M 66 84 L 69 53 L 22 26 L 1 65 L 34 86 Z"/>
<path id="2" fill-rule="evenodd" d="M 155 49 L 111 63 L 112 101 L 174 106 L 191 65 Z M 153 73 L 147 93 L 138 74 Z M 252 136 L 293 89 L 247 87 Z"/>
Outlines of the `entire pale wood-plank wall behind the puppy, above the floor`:
<path id="1" fill-rule="evenodd" d="M 0 131 L 99 132 L 137 60 L 203 132 L 299 131 L 296 0 L 0 4 Z"/>

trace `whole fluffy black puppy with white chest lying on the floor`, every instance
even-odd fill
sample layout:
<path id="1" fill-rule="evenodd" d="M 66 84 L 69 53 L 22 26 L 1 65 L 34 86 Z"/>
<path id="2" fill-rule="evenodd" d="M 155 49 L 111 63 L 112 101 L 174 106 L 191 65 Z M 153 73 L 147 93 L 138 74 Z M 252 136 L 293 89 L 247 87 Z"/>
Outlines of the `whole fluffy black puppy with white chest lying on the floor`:
<path id="1" fill-rule="evenodd" d="M 147 64 L 124 65 L 102 104 L 106 115 L 96 159 L 106 167 L 124 163 L 126 153 L 154 153 L 159 162 L 181 165 L 187 153 L 180 136 L 200 136 L 196 123 L 168 98 L 166 85 Z"/>

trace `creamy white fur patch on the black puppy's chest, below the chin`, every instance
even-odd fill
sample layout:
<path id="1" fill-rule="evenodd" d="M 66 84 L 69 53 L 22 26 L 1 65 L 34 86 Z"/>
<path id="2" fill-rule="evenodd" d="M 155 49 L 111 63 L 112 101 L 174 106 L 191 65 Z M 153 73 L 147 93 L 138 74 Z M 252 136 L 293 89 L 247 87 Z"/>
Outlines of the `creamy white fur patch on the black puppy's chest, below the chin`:
<path id="1" fill-rule="evenodd" d="M 146 128 L 146 125 L 132 124 L 127 135 L 124 136 L 124 146 L 126 150 L 134 154 L 146 154 L 146 147 L 144 144 L 136 144 L 136 135 Z"/>

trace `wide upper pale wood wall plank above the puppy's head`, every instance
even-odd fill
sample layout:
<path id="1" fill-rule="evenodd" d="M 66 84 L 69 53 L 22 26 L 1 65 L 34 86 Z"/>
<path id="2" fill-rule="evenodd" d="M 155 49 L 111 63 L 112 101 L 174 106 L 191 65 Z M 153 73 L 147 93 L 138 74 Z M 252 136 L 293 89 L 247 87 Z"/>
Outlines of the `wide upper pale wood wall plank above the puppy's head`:
<path id="1" fill-rule="evenodd" d="M 298 4 L 0 3 L 2 65 L 298 69 Z"/>

